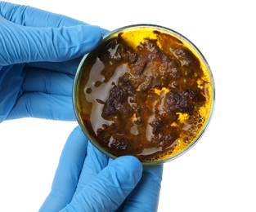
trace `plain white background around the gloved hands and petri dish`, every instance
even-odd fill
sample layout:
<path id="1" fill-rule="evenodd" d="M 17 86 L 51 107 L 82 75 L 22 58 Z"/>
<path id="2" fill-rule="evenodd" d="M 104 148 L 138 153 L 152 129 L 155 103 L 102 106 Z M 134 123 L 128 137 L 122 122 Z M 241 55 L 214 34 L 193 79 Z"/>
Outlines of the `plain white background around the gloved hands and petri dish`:
<path id="1" fill-rule="evenodd" d="M 208 60 L 216 104 L 208 130 L 164 165 L 159 211 L 256 211 L 254 1 L 15 0 L 106 29 L 159 24 L 182 33 Z M 37 211 L 75 122 L 0 124 L 0 211 Z"/>

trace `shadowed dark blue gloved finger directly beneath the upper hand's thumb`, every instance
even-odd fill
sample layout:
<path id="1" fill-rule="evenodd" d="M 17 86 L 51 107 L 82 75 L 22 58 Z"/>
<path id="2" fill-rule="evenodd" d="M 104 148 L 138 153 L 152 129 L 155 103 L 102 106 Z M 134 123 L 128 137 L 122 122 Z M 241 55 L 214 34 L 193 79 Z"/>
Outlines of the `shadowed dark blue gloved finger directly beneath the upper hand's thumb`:
<path id="1" fill-rule="evenodd" d="M 55 63 L 55 62 L 34 62 L 27 64 L 29 68 L 42 68 L 47 70 L 52 70 L 61 73 L 68 73 L 70 75 L 75 75 L 79 63 L 82 60 L 82 57 L 75 58 L 72 60 L 66 60 L 63 62 Z"/>

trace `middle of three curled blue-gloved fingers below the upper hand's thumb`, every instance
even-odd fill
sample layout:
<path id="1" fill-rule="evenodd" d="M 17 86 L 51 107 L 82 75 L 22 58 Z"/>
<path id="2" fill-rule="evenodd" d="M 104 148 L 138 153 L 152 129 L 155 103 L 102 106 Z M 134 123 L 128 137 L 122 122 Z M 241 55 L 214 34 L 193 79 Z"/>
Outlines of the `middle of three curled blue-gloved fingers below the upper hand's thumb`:
<path id="1" fill-rule="evenodd" d="M 27 68 L 22 90 L 71 97 L 73 81 L 74 78 L 65 73 L 41 68 Z"/>

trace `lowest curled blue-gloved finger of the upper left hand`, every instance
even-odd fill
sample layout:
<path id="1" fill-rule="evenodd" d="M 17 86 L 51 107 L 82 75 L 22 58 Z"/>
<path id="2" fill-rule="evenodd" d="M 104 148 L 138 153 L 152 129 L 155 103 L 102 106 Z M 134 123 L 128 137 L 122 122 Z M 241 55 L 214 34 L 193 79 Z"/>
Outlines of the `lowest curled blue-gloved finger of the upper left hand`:
<path id="1" fill-rule="evenodd" d="M 6 120 L 23 117 L 62 121 L 76 120 L 70 96 L 48 95 L 40 92 L 21 95 Z"/>

